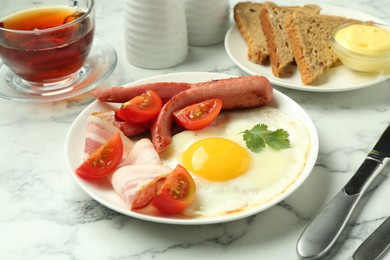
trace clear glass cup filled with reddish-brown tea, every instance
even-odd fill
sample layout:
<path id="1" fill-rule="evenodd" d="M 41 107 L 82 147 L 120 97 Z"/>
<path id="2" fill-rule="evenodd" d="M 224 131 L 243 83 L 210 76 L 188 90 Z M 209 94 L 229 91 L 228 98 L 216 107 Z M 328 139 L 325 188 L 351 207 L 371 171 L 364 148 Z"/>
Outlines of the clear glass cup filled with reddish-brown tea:
<path id="1" fill-rule="evenodd" d="M 10 1 L 0 10 L 7 83 L 33 94 L 69 87 L 87 73 L 94 28 L 94 0 Z"/>

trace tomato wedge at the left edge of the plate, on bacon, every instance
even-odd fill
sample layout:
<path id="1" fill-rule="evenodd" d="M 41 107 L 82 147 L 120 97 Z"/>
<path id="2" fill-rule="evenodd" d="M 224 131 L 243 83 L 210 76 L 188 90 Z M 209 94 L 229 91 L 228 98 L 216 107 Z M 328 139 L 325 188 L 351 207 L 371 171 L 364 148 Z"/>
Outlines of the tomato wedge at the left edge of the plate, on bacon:
<path id="1" fill-rule="evenodd" d="M 122 138 L 118 133 L 106 144 L 93 152 L 77 169 L 76 173 L 85 179 L 100 179 L 111 174 L 119 165 L 123 155 Z"/>

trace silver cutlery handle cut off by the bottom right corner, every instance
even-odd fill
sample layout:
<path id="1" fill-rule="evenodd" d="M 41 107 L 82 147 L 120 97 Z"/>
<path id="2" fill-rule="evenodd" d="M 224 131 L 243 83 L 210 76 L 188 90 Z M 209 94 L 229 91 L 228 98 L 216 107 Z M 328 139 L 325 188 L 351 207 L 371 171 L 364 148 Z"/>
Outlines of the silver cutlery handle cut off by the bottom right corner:
<path id="1" fill-rule="evenodd" d="M 388 249 L 390 249 L 390 217 L 356 249 L 353 260 L 380 259 Z"/>

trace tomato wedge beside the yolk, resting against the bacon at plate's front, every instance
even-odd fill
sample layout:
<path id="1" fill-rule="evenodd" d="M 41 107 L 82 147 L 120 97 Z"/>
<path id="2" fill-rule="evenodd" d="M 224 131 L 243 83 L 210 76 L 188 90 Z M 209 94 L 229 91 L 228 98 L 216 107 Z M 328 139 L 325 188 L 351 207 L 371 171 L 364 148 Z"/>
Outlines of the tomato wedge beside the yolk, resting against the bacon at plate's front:
<path id="1" fill-rule="evenodd" d="M 170 173 L 151 204 L 164 213 L 180 213 L 195 199 L 195 182 L 187 169 L 181 165 Z"/>

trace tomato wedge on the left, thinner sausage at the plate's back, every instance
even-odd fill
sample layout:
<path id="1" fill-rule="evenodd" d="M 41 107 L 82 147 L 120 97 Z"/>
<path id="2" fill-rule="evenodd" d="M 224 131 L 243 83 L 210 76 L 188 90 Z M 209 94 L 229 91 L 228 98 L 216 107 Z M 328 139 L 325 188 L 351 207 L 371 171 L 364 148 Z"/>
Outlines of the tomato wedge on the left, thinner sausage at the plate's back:
<path id="1" fill-rule="evenodd" d="M 161 107 L 161 98 L 153 90 L 148 90 L 123 103 L 118 110 L 118 116 L 131 123 L 146 123 L 160 112 Z"/>

